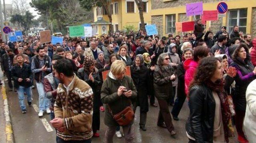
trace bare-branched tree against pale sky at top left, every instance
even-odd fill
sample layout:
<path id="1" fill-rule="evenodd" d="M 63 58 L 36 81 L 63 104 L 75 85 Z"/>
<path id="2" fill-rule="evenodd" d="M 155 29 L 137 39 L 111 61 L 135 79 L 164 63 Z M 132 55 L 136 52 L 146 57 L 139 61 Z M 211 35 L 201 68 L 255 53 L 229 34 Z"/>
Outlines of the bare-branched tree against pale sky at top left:
<path id="1" fill-rule="evenodd" d="M 24 15 L 28 10 L 27 0 L 12 0 L 12 6 L 14 7 L 14 14 Z"/>

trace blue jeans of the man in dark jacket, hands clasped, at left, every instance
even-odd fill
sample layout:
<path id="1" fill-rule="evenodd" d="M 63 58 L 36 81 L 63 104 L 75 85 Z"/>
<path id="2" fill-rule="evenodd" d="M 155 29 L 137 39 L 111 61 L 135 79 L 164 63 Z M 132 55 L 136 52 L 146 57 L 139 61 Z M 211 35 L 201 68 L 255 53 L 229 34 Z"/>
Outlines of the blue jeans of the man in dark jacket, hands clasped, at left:
<path id="1" fill-rule="evenodd" d="M 17 90 L 17 93 L 18 93 L 18 98 L 19 98 L 19 103 L 20 103 L 20 108 L 22 110 L 25 110 L 26 109 L 26 105 L 24 103 L 24 99 L 25 99 L 25 96 L 24 96 L 24 92 L 26 92 L 27 94 L 27 100 L 28 102 L 31 102 L 31 97 L 32 97 L 32 90 L 31 90 L 31 87 L 23 87 L 23 86 L 19 86 L 18 90 Z"/>

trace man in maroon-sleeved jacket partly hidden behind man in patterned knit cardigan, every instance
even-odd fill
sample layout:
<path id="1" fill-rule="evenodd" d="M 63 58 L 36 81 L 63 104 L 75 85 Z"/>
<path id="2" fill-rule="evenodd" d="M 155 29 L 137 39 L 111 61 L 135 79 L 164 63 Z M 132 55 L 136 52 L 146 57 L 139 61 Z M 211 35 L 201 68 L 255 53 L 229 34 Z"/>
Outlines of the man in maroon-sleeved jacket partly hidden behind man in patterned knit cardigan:
<path id="1" fill-rule="evenodd" d="M 52 73 L 46 75 L 43 79 L 44 81 L 44 92 L 45 92 L 45 97 L 50 99 L 50 110 L 51 110 L 51 120 L 54 119 L 54 103 L 56 100 L 57 96 L 57 87 L 60 81 L 55 77 L 54 73 L 54 67 L 53 65 L 58 61 L 58 60 L 63 60 L 64 58 L 60 55 L 54 55 L 52 57 Z"/>

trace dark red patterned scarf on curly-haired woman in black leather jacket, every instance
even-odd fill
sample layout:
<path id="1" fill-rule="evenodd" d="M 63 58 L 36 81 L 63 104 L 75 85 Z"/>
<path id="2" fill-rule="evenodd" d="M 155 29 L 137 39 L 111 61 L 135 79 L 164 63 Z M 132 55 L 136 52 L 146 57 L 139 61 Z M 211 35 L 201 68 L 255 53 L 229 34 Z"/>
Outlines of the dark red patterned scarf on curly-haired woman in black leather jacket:
<path id="1" fill-rule="evenodd" d="M 211 80 L 206 81 L 207 87 L 216 91 L 220 98 L 222 121 L 224 126 L 225 140 L 228 143 L 228 137 L 234 137 L 234 128 L 231 121 L 231 112 L 228 103 L 228 95 L 224 90 L 224 79 L 218 80 L 213 83 Z"/>

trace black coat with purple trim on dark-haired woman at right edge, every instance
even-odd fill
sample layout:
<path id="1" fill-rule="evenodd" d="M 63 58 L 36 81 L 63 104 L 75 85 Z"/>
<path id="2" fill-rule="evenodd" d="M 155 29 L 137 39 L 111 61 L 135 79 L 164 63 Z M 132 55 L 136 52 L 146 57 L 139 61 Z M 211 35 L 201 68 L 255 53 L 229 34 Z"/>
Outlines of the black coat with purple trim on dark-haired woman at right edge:
<path id="1" fill-rule="evenodd" d="M 245 111 L 246 89 L 250 82 L 256 79 L 256 76 L 252 72 L 254 70 L 254 66 L 252 65 L 252 62 L 250 62 L 250 60 L 244 60 L 243 62 L 239 57 L 237 57 L 230 66 L 235 67 L 237 71 L 236 77 L 234 77 L 236 81 L 235 91 L 233 95 L 234 105 L 236 109 L 240 111 Z"/>

